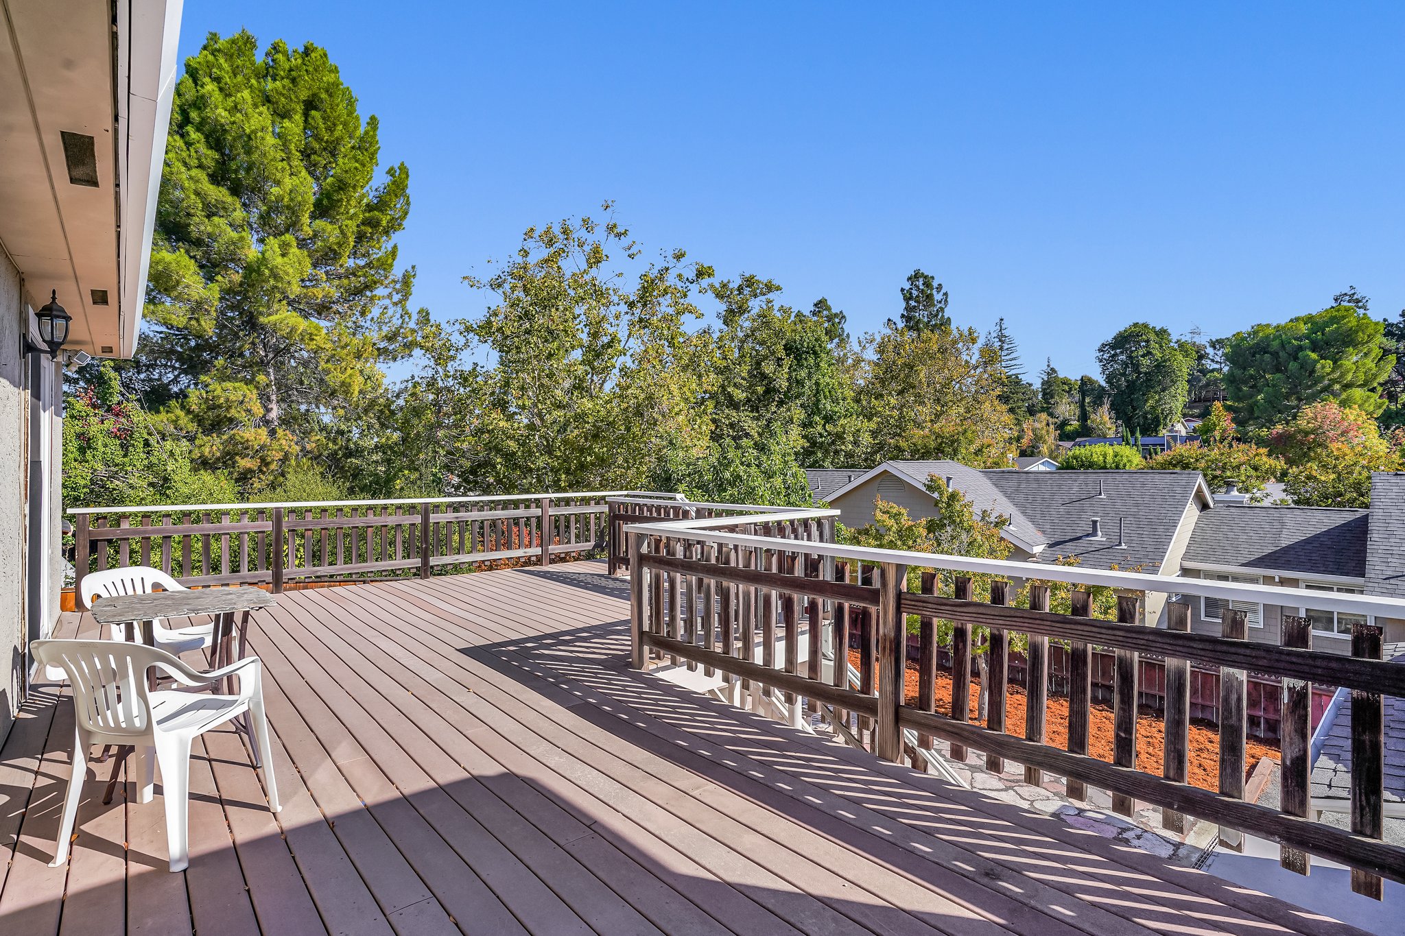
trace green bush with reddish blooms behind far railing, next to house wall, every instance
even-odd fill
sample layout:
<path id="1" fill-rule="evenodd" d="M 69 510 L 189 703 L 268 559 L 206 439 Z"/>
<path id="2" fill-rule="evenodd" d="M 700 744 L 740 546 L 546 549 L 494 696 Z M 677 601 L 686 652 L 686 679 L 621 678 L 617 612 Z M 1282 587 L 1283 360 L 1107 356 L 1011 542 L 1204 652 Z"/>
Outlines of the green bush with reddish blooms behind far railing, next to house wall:
<path id="1" fill-rule="evenodd" d="M 124 396 L 111 362 L 65 397 L 63 500 L 69 507 L 225 504 L 233 484 L 191 463 L 190 445 Z"/>

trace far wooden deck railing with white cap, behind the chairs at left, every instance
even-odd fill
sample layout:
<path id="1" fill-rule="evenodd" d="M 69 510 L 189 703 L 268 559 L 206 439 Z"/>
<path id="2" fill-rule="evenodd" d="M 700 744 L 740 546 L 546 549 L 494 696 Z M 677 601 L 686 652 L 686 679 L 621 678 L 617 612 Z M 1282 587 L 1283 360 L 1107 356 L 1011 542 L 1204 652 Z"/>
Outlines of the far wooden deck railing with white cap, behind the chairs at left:
<path id="1" fill-rule="evenodd" d="M 606 546 L 606 500 L 625 491 L 301 504 L 80 508 L 83 577 L 153 566 L 184 585 L 268 585 L 419 575 Z"/>

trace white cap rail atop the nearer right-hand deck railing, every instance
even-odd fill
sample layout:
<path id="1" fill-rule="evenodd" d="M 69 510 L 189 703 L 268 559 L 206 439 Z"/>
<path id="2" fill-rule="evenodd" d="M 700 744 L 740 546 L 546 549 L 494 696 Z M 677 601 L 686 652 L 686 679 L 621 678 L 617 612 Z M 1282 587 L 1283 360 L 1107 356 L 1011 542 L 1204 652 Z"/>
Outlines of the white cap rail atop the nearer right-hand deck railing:
<path id="1" fill-rule="evenodd" d="M 739 523 L 774 523 L 795 519 L 818 519 L 835 516 L 835 509 L 794 509 L 783 514 L 753 514 L 742 516 L 721 516 L 700 521 L 665 521 L 656 523 L 628 523 L 625 533 L 669 536 L 694 542 L 726 543 L 729 546 L 756 546 L 777 549 L 774 536 L 747 536 L 725 533 L 708 526 L 735 526 Z M 1003 578 L 1034 578 L 1066 582 L 1071 585 L 1100 585 L 1125 591 L 1156 594 L 1190 594 L 1205 598 L 1246 601 L 1256 605 L 1284 605 L 1288 608 L 1312 608 L 1315 610 L 1338 610 L 1375 617 L 1405 619 L 1405 599 L 1377 595 L 1350 595 L 1343 592 L 1307 592 L 1281 585 L 1249 585 L 1218 582 L 1208 578 L 1182 578 L 1146 573 L 1124 573 L 1080 566 L 1054 566 L 1051 563 L 1012 561 L 999 559 L 972 559 L 969 556 L 948 556 L 944 553 L 917 553 L 896 549 L 873 549 L 868 546 L 844 546 L 842 543 L 821 543 L 816 540 L 795 540 L 797 550 L 837 559 L 865 563 L 899 563 L 917 568 L 946 568 L 958 573 L 999 575 Z"/>

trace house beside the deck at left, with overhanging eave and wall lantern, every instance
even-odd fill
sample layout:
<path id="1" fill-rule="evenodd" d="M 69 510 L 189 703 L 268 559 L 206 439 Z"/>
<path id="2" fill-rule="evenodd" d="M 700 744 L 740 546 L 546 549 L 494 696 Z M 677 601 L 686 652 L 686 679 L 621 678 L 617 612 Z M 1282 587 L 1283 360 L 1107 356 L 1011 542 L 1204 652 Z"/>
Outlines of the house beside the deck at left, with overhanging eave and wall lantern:
<path id="1" fill-rule="evenodd" d="M 180 8 L 10 3 L 0 18 L 0 738 L 25 647 L 59 616 L 63 365 L 136 345 Z M 35 316 L 51 296 L 72 316 L 56 359 Z"/>

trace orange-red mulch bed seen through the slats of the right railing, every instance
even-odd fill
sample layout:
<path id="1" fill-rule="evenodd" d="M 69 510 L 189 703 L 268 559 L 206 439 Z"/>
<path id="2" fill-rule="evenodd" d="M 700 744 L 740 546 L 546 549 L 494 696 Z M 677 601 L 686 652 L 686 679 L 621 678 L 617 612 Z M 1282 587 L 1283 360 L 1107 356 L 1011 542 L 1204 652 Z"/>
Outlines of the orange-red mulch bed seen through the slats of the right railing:
<path id="1" fill-rule="evenodd" d="M 850 662 L 858 667 L 858 651 L 849 651 Z M 917 699 L 917 665 L 908 662 L 906 700 L 915 704 Z M 976 699 L 981 695 L 979 682 L 971 679 L 971 711 L 978 711 Z M 951 676 L 937 671 L 937 711 L 944 716 L 951 714 Z M 984 724 L 974 714 L 971 721 Z M 1005 726 L 1006 733 L 1024 737 L 1024 688 L 1010 686 L 1005 696 Z M 1044 740 L 1057 748 L 1068 747 L 1068 699 L 1050 696 L 1044 716 Z M 1087 724 L 1087 752 L 1099 761 L 1113 761 L 1113 710 L 1110 706 L 1093 703 Z M 1141 711 L 1137 716 L 1137 769 L 1155 776 L 1161 776 L 1162 769 L 1162 718 L 1159 714 Z M 1248 769 L 1260 758 L 1277 758 L 1277 748 L 1269 747 L 1255 740 L 1245 744 L 1245 763 Z M 1191 723 L 1190 726 L 1190 783 L 1204 790 L 1220 789 L 1220 733 L 1213 726 Z"/>

